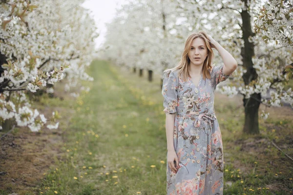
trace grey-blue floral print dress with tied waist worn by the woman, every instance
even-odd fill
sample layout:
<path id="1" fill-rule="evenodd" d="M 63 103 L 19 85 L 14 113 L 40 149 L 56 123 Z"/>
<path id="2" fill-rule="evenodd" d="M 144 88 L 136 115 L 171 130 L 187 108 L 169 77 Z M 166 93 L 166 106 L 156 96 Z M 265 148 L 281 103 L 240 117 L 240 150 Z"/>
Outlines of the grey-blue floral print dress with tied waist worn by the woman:
<path id="1" fill-rule="evenodd" d="M 175 114 L 174 149 L 177 173 L 167 165 L 167 195 L 223 195 L 224 158 L 222 135 L 214 111 L 214 91 L 226 80 L 223 66 L 214 66 L 211 78 L 189 77 L 185 82 L 176 71 L 164 72 L 164 112 Z"/>

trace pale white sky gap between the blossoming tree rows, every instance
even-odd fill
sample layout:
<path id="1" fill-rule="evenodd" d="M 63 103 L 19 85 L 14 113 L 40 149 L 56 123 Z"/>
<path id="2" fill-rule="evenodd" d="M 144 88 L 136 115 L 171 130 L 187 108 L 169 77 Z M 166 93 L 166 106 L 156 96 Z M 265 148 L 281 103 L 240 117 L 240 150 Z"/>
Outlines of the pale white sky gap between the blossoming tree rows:
<path id="1" fill-rule="evenodd" d="M 92 11 L 92 16 L 96 21 L 100 36 L 96 39 L 96 49 L 98 49 L 105 40 L 106 27 L 105 23 L 109 23 L 116 14 L 116 8 L 126 0 L 85 0 L 83 6 Z"/>

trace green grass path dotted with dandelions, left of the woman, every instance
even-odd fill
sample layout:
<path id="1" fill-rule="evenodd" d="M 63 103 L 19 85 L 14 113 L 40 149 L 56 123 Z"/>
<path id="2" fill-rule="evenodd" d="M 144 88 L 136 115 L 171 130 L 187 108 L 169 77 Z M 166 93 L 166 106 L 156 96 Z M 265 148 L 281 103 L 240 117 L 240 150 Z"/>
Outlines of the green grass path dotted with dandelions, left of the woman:
<path id="1" fill-rule="evenodd" d="M 69 160 L 47 174 L 43 194 L 163 195 L 161 160 L 167 151 L 161 107 L 138 100 L 140 92 L 128 89 L 105 62 L 94 63 L 91 90 L 77 100 L 77 115 L 66 130 Z"/>

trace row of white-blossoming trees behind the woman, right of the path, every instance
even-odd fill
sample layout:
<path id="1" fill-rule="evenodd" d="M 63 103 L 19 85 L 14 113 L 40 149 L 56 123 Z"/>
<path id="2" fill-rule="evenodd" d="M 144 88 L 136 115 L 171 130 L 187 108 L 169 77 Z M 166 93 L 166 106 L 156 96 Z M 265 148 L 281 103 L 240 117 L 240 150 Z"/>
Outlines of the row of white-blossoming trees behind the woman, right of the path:
<path id="1" fill-rule="evenodd" d="M 161 74 L 179 62 L 187 37 L 205 31 L 238 68 L 221 93 L 243 95 L 244 132 L 259 133 L 258 110 L 293 106 L 293 5 L 289 0 L 132 0 L 107 25 L 101 56 L 117 65 Z M 219 55 L 216 63 L 221 63 Z M 269 97 L 266 98 L 267 93 Z M 261 112 L 263 118 L 269 113 Z"/>

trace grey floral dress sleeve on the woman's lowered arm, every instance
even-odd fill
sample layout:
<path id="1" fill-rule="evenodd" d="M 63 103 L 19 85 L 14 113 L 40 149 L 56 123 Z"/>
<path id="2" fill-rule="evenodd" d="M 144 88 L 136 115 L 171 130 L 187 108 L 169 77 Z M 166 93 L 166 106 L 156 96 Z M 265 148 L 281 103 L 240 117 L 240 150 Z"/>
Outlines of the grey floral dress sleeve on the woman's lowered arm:
<path id="1" fill-rule="evenodd" d="M 165 72 L 163 76 L 162 95 L 164 97 L 163 106 L 166 114 L 177 113 L 177 86 L 177 79 L 174 72 Z"/>

